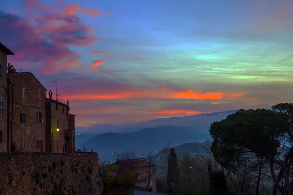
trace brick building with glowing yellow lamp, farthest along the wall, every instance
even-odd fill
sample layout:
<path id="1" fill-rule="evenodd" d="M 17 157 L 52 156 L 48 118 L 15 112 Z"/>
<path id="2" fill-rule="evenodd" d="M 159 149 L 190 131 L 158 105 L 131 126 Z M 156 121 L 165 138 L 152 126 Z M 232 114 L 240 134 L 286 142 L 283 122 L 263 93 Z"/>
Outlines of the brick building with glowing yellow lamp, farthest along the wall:
<path id="1" fill-rule="evenodd" d="M 69 110 L 68 100 L 66 104 L 54 100 L 50 90 L 46 98 L 46 152 L 75 152 L 75 115 L 69 114 Z"/>

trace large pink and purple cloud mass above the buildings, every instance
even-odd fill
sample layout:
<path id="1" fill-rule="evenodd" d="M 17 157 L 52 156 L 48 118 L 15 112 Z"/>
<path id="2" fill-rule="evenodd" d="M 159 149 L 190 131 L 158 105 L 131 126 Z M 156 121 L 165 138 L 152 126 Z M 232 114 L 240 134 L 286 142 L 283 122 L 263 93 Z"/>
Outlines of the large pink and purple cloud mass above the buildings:
<path id="1" fill-rule="evenodd" d="M 81 56 L 69 46 L 87 46 L 98 39 L 91 35 L 92 27 L 85 25 L 77 14 L 97 17 L 102 12 L 62 0 L 21 2 L 26 20 L 0 11 L 0 23 L 5 26 L 0 37 L 16 54 L 9 62 L 16 68 L 35 69 L 46 75 L 80 67 Z"/>

